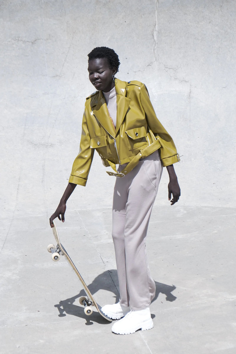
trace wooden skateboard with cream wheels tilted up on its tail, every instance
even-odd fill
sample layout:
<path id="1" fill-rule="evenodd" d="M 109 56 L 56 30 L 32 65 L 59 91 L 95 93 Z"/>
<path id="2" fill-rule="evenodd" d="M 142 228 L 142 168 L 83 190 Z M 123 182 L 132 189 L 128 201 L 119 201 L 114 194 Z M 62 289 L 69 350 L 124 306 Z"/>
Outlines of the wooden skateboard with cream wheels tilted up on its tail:
<path id="1" fill-rule="evenodd" d="M 54 245 L 48 245 L 47 246 L 47 250 L 48 252 L 52 253 L 52 260 L 57 262 L 60 259 L 60 255 L 65 256 L 65 259 L 67 260 L 67 262 L 70 264 L 70 266 L 72 267 L 72 269 L 74 270 L 75 275 L 77 276 L 77 278 L 79 279 L 80 284 L 82 285 L 87 297 L 80 297 L 79 298 L 79 303 L 84 306 L 84 312 L 86 315 L 91 315 L 93 313 L 93 307 L 95 307 L 98 311 L 98 313 L 105 318 L 106 320 L 108 320 L 109 322 L 112 322 L 112 319 L 109 318 L 107 315 L 105 315 L 102 310 L 101 310 L 101 306 L 98 305 L 98 303 L 94 300 L 90 290 L 88 289 L 87 285 L 85 284 L 84 279 L 82 278 L 82 276 L 80 275 L 79 271 L 77 270 L 77 268 L 75 267 L 75 264 L 72 262 L 70 256 L 68 255 L 67 251 L 64 249 L 63 245 L 60 242 L 59 239 L 59 235 L 58 235 L 58 231 L 57 231 L 57 227 L 56 224 L 53 221 L 53 235 L 54 238 L 57 242 L 57 246 L 55 247 Z"/>

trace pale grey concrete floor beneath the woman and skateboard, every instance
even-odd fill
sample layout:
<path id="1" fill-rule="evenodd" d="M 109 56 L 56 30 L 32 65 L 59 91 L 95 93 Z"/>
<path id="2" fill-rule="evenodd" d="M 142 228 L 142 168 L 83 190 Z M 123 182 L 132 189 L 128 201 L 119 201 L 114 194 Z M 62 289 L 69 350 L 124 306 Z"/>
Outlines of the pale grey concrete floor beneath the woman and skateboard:
<path id="1" fill-rule="evenodd" d="M 147 240 L 154 328 L 119 336 L 84 314 L 46 215 L 1 222 L 1 353 L 236 353 L 235 208 L 155 206 Z M 68 210 L 61 241 L 103 306 L 118 299 L 111 210 Z"/>

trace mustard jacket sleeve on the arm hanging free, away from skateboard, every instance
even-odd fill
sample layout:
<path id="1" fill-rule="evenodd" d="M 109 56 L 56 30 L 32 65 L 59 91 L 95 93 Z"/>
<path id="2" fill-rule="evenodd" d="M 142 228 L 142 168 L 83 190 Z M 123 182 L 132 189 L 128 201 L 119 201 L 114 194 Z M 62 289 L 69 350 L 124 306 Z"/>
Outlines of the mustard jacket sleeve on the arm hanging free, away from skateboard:
<path id="1" fill-rule="evenodd" d="M 175 162 L 178 162 L 179 154 L 177 153 L 174 142 L 163 125 L 157 119 L 156 113 L 149 98 L 148 90 L 144 84 L 142 84 L 140 87 L 140 100 L 145 111 L 148 126 L 154 133 L 155 138 L 158 139 L 161 144 L 159 152 L 163 166 L 169 166 Z"/>

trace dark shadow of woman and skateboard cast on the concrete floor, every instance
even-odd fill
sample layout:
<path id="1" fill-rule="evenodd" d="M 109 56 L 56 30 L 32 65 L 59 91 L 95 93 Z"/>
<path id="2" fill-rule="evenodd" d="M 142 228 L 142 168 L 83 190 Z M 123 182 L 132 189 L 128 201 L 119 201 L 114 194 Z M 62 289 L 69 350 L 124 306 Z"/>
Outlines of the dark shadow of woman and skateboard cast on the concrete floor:
<path id="1" fill-rule="evenodd" d="M 172 294 L 172 291 L 176 289 L 174 285 L 167 285 L 167 284 L 162 284 L 157 281 L 156 283 L 156 295 L 153 301 L 157 299 L 160 293 L 166 295 L 166 301 L 175 301 L 176 297 Z M 115 301 L 119 301 L 119 290 L 116 287 L 116 284 L 118 284 L 118 279 L 117 279 L 117 271 L 116 269 L 111 269 L 106 272 L 103 272 L 102 274 L 99 274 L 91 284 L 88 285 L 88 289 L 94 295 L 98 290 L 107 290 L 112 293 L 114 293 Z M 70 297 L 65 300 L 61 300 L 59 304 L 54 305 L 55 307 L 58 308 L 59 311 L 59 317 L 66 316 L 68 315 L 73 315 L 77 316 L 80 318 L 84 318 L 87 322 L 86 325 L 92 325 L 93 322 L 97 322 L 100 324 L 105 324 L 109 323 L 106 321 L 102 316 L 99 315 L 97 312 L 93 312 L 92 315 L 87 316 L 84 313 L 84 307 L 80 305 L 74 304 L 77 298 L 80 298 L 81 296 L 86 296 L 86 293 L 84 290 L 81 290 L 77 295 Z M 96 300 L 96 297 L 95 297 Z M 79 302 L 78 302 L 79 303 Z"/>

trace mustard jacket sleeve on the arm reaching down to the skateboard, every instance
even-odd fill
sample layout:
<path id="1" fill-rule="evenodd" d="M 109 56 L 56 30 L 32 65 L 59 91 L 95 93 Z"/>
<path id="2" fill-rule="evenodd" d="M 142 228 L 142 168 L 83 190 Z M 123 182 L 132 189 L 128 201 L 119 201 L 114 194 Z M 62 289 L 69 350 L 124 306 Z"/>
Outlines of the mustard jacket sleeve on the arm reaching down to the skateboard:
<path id="1" fill-rule="evenodd" d="M 90 148 L 91 138 L 87 128 L 86 115 L 82 120 L 82 133 L 80 140 L 80 152 L 75 158 L 70 174 L 69 182 L 80 184 L 85 187 L 88 173 L 93 160 L 94 149 Z"/>

